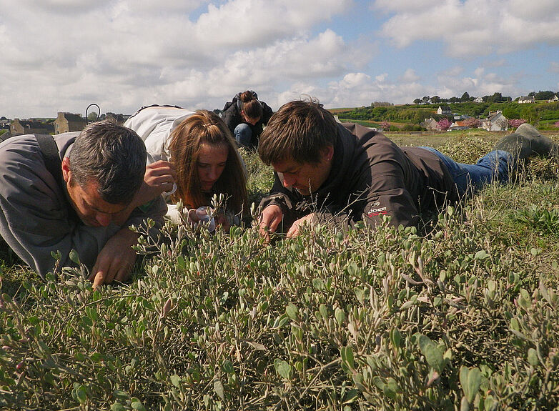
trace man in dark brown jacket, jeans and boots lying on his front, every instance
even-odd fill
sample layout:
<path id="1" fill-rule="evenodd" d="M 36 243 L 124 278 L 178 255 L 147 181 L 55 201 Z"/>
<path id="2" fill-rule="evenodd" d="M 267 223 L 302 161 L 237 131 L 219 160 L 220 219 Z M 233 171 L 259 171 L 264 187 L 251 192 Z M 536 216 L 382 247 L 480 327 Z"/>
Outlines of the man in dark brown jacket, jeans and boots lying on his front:
<path id="1" fill-rule="evenodd" d="M 317 101 L 291 101 L 270 119 L 258 154 L 275 172 L 260 203 L 260 232 L 282 228 L 295 237 L 304 223 L 375 226 L 389 216 L 396 227 L 417 226 L 421 212 L 507 182 L 521 159 L 557 157 L 559 147 L 523 124 L 477 164 L 459 164 L 429 147 L 397 147 L 372 129 L 338 124 Z"/>

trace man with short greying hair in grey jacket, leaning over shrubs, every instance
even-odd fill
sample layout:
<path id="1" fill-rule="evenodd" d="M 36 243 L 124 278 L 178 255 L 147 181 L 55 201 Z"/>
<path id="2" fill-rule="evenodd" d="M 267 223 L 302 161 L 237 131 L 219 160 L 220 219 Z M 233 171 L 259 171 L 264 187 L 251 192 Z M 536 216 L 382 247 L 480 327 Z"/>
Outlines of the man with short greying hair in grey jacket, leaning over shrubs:
<path id="1" fill-rule="evenodd" d="M 162 224 L 167 207 L 159 194 L 172 187 L 164 168 L 146 168 L 146 156 L 142 139 L 112 122 L 56 137 L 6 139 L 0 144 L 2 237 L 43 278 L 70 264 L 74 249 L 94 287 L 124 281 L 136 261 L 138 235 L 129 226 L 148 217 Z M 60 254 L 58 267 L 51 253 Z"/>

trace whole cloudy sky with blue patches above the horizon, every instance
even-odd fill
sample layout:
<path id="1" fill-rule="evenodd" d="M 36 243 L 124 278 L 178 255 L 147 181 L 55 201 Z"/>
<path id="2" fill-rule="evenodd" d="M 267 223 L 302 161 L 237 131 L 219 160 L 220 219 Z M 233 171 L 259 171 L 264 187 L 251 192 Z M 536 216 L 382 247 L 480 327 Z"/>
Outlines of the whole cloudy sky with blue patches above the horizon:
<path id="1" fill-rule="evenodd" d="M 0 117 L 559 91 L 557 0 L 0 0 Z"/>

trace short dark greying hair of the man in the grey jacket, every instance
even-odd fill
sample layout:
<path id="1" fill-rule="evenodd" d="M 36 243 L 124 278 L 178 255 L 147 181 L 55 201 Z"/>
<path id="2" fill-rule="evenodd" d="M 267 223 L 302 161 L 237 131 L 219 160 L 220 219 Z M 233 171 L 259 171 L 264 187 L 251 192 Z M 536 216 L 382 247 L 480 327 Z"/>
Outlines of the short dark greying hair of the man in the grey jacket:
<path id="1" fill-rule="evenodd" d="M 79 187 L 97 182 L 104 201 L 129 204 L 144 181 L 146 156 L 136 132 L 113 121 L 95 122 L 76 137 L 70 170 Z"/>

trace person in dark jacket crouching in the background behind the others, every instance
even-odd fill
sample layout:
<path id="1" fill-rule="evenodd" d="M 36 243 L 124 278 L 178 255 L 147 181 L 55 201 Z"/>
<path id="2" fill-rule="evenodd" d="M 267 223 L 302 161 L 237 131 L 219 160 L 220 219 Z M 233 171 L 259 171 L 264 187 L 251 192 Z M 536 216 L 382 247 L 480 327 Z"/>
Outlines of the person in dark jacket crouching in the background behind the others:
<path id="1" fill-rule="evenodd" d="M 247 90 L 233 97 L 223 107 L 222 119 L 233 133 L 239 147 L 256 149 L 262 129 L 272 117 L 272 109 Z"/>

